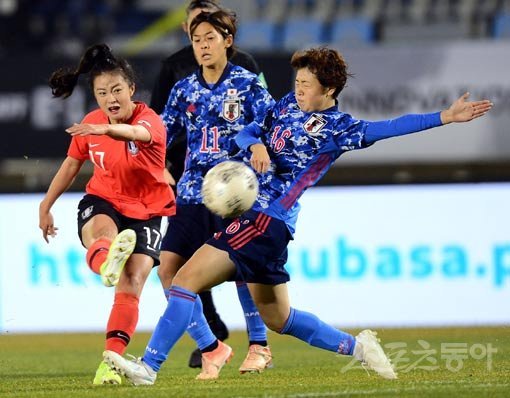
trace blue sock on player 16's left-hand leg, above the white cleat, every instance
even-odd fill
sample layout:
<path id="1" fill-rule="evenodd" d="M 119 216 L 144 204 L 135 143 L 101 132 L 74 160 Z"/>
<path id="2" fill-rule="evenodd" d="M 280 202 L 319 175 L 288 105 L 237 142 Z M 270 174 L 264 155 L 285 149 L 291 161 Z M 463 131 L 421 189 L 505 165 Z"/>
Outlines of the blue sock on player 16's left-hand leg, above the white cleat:
<path id="1" fill-rule="evenodd" d="M 163 316 L 159 318 L 142 360 L 156 372 L 159 371 L 168 353 L 188 327 L 197 294 L 172 286 L 170 298 Z"/>

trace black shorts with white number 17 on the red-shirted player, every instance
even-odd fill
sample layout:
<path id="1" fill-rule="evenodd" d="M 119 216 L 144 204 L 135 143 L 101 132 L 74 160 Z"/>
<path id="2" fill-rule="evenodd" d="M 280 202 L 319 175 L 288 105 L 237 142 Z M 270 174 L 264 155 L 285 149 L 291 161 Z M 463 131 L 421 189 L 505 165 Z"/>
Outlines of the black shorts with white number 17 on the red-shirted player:
<path id="1" fill-rule="evenodd" d="M 95 195 L 85 195 L 78 204 L 78 236 L 83 244 L 81 230 L 83 226 L 96 214 L 110 217 L 117 229 L 123 231 L 132 229 L 136 233 L 136 246 L 133 253 L 146 254 L 154 259 L 154 266 L 159 265 L 161 247 L 161 217 L 148 220 L 125 217 L 113 208 L 110 202 Z"/>

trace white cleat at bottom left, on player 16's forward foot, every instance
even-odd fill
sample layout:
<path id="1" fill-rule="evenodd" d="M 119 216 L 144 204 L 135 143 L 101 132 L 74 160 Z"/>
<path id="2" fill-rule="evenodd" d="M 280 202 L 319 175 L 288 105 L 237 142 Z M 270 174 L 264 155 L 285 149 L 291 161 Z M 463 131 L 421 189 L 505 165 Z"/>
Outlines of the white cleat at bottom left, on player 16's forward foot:
<path id="1" fill-rule="evenodd" d="M 152 385 L 156 381 L 158 374 L 141 358 L 128 360 L 114 351 L 105 351 L 103 359 L 111 369 L 125 376 L 135 386 Z"/>

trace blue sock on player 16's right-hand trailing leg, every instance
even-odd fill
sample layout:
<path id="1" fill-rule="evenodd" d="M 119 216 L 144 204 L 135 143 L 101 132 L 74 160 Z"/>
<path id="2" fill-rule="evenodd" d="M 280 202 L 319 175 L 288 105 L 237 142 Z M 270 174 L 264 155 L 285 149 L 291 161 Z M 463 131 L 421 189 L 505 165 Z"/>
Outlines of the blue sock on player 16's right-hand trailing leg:
<path id="1" fill-rule="evenodd" d="M 280 334 L 290 334 L 314 347 L 342 355 L 352 355 L 354 351 L 354 336 L 329 326 L 309 312 L 294 308 L 290 309 L 289 319 Z"/>

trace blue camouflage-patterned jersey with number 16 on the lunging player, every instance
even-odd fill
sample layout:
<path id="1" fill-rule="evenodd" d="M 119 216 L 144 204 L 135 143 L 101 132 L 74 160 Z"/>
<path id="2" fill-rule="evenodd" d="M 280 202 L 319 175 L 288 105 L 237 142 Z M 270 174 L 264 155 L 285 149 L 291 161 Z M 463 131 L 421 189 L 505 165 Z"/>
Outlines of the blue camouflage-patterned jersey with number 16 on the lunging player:
<path id="1" fill-rule="evenodd" d="M 295 232 L 298 199 L 314 185 L 344 152 L 369 144 L 364 136 L 367 123 L 338 111 L 303 112 L 293 92 L 271 109 L 262 123 L 246 129 L 236 141 L 241 148 L 262 141 L 271 159 L 269 171 L 259 174 L 259 195 L 253 210 L 284 221 Z"/>

